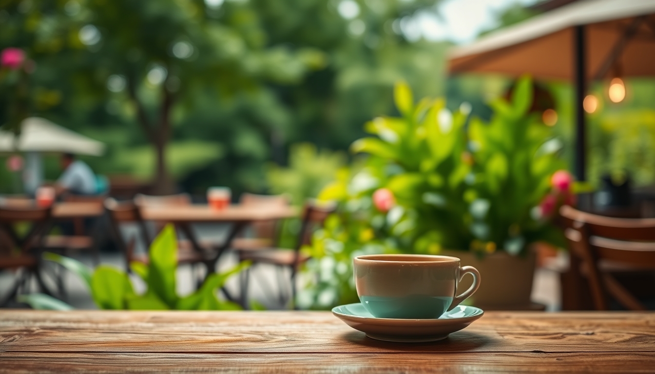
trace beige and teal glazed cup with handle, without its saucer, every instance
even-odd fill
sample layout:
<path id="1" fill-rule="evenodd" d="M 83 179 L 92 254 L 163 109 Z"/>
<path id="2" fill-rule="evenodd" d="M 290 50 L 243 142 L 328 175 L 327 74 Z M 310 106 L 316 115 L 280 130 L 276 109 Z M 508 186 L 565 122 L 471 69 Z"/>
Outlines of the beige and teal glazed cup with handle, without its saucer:
<path id="1" fill-rule="evenodd" d="M 457 296 L 464 274 L 473 285 Z M 354 259 L 357 295 L 377 318 L 439 318 L 477 290 L 480 273 L 459 259 L 436 255 L 363 255 Z"/>

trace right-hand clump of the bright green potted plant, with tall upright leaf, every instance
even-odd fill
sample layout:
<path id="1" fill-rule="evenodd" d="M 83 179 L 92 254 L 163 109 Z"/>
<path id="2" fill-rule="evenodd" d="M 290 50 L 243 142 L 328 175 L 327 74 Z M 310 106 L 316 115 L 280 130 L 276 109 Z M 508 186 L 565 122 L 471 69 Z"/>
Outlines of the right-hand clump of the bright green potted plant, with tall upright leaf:
<path id="1" fill-rule="evenodd" d="M 491 104 L 495 113 L 489 123 L 470 124 L 470 140 L 477 148 L 473 249 L 491 242 L 493 248 L 517 254 L 537 240 L 557 240 L 554 227 L 534 207 L 550 191 L 553 173 L 565 163 L 552 130 L 540 121 L 539 113 L 529 113 L 531 93 L 530 79 L 519 79 L 510 102 L 497 99 Z"/>

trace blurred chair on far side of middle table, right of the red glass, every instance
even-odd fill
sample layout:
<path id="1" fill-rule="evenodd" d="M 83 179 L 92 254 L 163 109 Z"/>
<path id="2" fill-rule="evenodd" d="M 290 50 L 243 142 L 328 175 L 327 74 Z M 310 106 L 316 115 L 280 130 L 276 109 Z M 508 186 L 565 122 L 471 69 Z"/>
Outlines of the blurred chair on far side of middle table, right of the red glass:
<path id="1" fill-rule="evenodd" d="M 241 195 L 242 206 L 255 206 L 262 209 L 288 208 L 290 201 L 286 195 L 255 195 L 244 193 Z M 234 238 L 234 250 L 261 250 L 276 246 L 278 242 L 278 220 L 257 221 L 250 224 L 252 237 Z"/>

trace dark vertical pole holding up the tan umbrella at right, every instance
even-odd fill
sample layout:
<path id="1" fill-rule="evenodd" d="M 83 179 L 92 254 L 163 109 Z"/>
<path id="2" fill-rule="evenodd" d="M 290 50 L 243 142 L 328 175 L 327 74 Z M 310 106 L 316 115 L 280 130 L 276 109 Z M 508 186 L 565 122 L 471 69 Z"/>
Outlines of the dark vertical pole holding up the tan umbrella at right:
<path id="1" fill-rule="evenodd" d="M 586 156 L 587 156 L 587 134 L 584 113 L 584 97 L 586 96 L 587 79 L 586 79 L 586 40 L 584 25 L 573 28 L 573 72 L 575 79 L 575 157 L 574 173 L 578 181 L 585 181 L 586 176 Z"/>

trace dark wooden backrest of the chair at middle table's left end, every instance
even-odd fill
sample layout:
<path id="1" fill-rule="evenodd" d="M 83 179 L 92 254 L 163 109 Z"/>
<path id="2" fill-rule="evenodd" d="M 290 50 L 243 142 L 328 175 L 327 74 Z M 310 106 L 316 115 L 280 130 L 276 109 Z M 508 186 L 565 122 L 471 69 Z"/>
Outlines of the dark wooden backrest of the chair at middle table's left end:
<path id="1" fill-rule="evenodd" d="M 145 227 L 145 222 L 141 219 L 141 214 L 139 212 L 138 206 L 132 201 L 122 201 L 119 202 L 114 198 L 107 198 L 104 202 L 105 210 L 109 215 L 109 226 L 111 232 L 116 240 L 119 249 L 125 256 L 126 267 L 130 269 L 130 261 L 134 258 L 134 242 L 136 238 L 132 236 L 130 240 L 125 241 L 121 234 L 121 225 L 124 223 L 136 223 L 138 234 L 141 236 L 141 240 L 144 245 L 147 247 L 150 246 L 152 240 L 148 234 L 147 227 Z"/>

